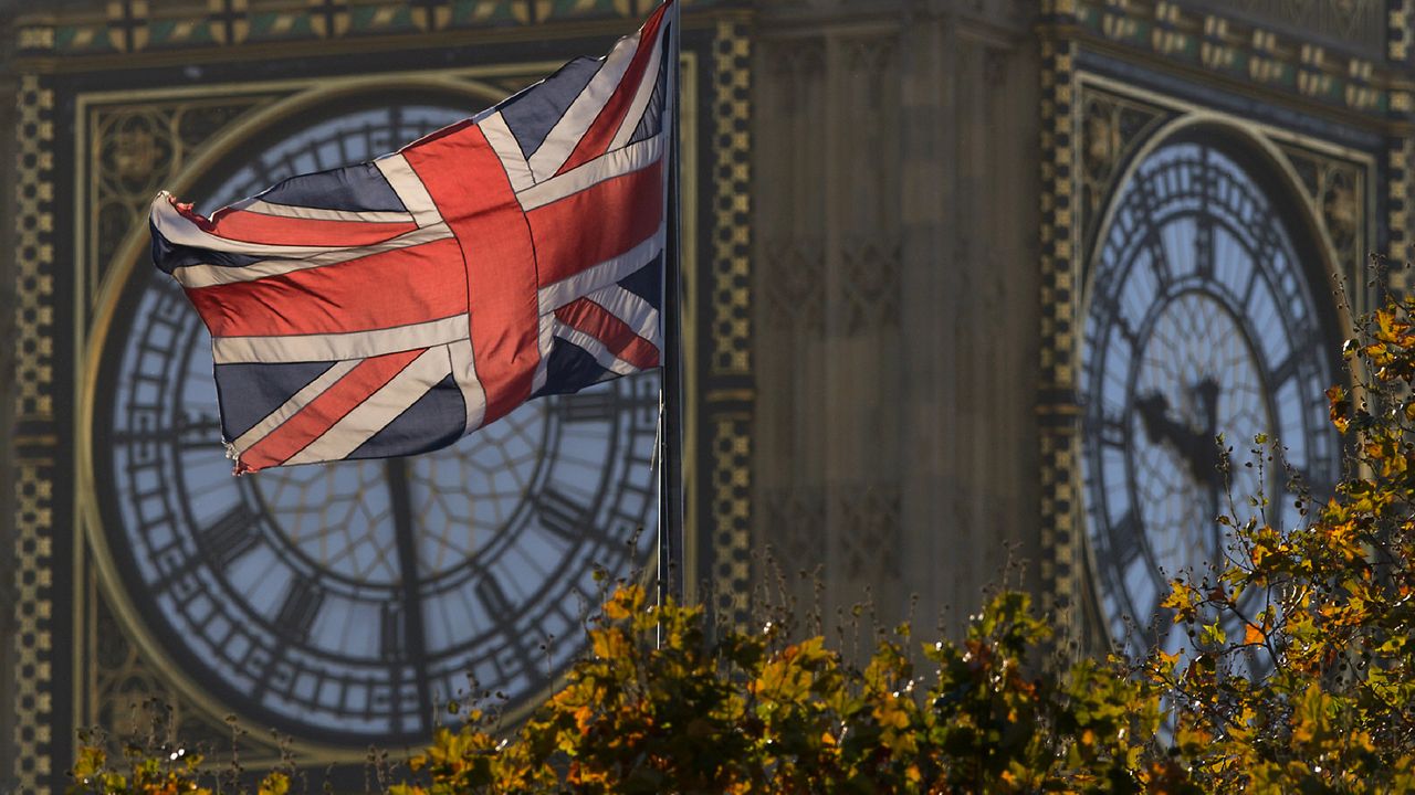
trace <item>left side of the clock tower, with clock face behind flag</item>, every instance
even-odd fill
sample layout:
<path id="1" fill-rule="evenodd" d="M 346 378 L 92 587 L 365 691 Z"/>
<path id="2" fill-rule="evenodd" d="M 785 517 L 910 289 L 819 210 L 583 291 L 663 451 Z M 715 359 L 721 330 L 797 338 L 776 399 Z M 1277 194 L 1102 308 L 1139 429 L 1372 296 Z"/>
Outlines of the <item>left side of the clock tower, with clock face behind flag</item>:
<path id="1" fill-rule="evenodd" d="M 76 730 L 130 731 L 146 702 L 211 748 L 233 716 L 250 765 L 280 758 L 275 729 L 340 788 L 371 744 L 423 744 L 467 693 L 522 719 L 583 649 L 600 573 L 652 571 L 657 372 L 535 400 L 434 454 L 235 478 L 209 338 L 153 269 L 146 214 L 158 190 L 211 212 L 396 150 L 607 52 L 657 3 L 17 6 L 0 791 L 61 791 Z M 691 6 L 686 378 L 743 395 L 747 14 Z M 320 375 L 283 372 L 294 389 Z M 741 406 L 686 406 L 685 470 L 708 446 L 741 463 Z M 689 596 L 720 583 L 729 617 L 749 591 L 737 477 L 691 481 L 683 555 Z"/>

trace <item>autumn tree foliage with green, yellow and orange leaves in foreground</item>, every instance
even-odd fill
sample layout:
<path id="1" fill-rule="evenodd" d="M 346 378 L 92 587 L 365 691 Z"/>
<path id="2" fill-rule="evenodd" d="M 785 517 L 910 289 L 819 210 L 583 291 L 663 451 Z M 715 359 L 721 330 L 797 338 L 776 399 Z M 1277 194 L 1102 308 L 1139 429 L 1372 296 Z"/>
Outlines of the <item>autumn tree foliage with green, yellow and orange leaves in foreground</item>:
<path id="1" fill-rule="evenodd" d="M 1264 495 L 1221 521 L 1208 571 L 1177 573 L 1177 654 L 1051 665 L 1049 624 L 1003 591 L 959 641 L 880 635 L 867 665 L 780 624 L 709 632 L 702 608 L 624 584 L 589 654 L 528 721 L 474 707 L 395 765 L 392 795 L 514 792 L 1415 791 L 1415 300 L 1392 300 L 1344 347 L 1327 396 L 1347 443 L 1330 498 L 1296 528 Z M 1220 440 L 1223 444 L 1223 440 Z M 1262 436 L 1237 461 L 1282 471 Z M 1252 460 L 1244 460 L 1252 455 Z M 1234 465 L 1225 447 L 1221 467 Z M 1272 471 L 1272 470 L 1269 470 Z M 222 791 L 195 754 L 98 743 L 76 794 Z M 393 782 L 398 781 L 398 782 Z M 259 795 L 286 795 L 276 771 Z M 239 789 L 229 782 L 226 792 Z"/>

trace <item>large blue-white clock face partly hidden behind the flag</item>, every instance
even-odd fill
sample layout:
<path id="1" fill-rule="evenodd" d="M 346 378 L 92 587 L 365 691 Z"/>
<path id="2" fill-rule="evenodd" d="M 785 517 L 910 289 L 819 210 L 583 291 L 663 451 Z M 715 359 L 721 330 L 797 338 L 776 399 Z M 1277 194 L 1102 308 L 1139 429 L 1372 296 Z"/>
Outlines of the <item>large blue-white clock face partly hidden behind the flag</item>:
<path id="1" fill-rule="evenodd" d="M 395 106 L 314 124 L 200 207 L 464 115 Z M 147 628 L 224 709 L 351 747 L 427 736 L 470 682 L 514 713 L 579 652 L 596 566 L 645 563 L 657 373 L 533 400 L 415 458 L 236 478 L 205 328 L 170 277 L 133 280 L 95 429 L 108 546 Z"/>

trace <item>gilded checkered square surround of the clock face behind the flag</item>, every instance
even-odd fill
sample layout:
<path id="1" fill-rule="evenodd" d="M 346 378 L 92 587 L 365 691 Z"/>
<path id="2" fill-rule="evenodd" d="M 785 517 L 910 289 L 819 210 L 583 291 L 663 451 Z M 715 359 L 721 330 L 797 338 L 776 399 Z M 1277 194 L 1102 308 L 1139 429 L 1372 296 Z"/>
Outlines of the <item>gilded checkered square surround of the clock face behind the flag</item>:
<path id="1" fill-rule="evenodd" d="M 358 1 L 334 3 L 334 13 L 324 16 L 314 7 L 316 4 L 307 10 L 280 11 L 284 17 L 275 20 L 273 27 L 266 24 L 270 21 L 265 18 L 269 14 L 260 14 L 259 3 L 252 10 L 242 0 L 228 1 L 225 16 L 195 14 L 191 21 L 149 20 L 144 17 L 149 10 L 142 0 L 125 0 L 110 6 L 119 7 L 125 18 L 136 20 L 137 24 L 130 31 L 119 34 L 113 25 L 122 20 L 86 23 L 82 18 L 74 21 L 61 18 L 21 23 L 18 31 L 23 57 L 27 58 L 21 66 L 25 74 L 21 75 L 18 92 L 21 150 L 16 218 L 21 255 L 16 345 L 18 379 L 23 383 L 16 437 L 18 453 L 16 560 L 20 584 L 20 600 L 16 605 L 20 628 L 16 740 L 18 758 L 23 760 L 17 771 L 17 784 L 23 792 L 48 791 L 57 772 L 67 765 L 61 757 L 67 754 L 69 745 L 55 743 L 55 726 L 100 724 L 120 729 L 125 721 L 132 720 L 134 712 L 130 704 L 139 696 L 156 696 L 173 706 L 173 723 L 183 734 L 229 741 L 229 729 L 222 720 L 226 710 L 212 703 L 200 687 L 164 659 L 161 651 L 151 644 L 151 638 L 144 635 L 140 622 L 132 615 L 132 605 L 126 604 L 120 588 L 113 587 L 116 583 L 113 573 L 105 571 L 105 567 L 110 567 L 110 562 L 102 552 L 105 542 L 103 533 L 99 532 L 92 489 L 79 488 L 72 508 L 62 512 L 69 515 L 72 511 L 74 528 L 78 530 L 75 539 L 85 539 L 85 543 L 75 542 L 72 552 L 55 550 L 51 543 L 57 529 L 54 515 L 57 484 L 71 477 L 81 484 L 92 478 L 89 422 L 95 398 L 93 358 L 98 355 L 96 351 L 102 349 L 122 280 L 142 257 L 146 228 L 133 221 L 142 218 L 150 199 L 149 182 L 157 180 L 164 182 L 164 187 L 180 191 L 241 141 L 301 106 L 328 102 L 341 95 L 376 92 L 379 88 L 406 89 L 409 81 L 429 91 L 475 96 L 490 103 L 553 71 L 559 66 L 559 61 L 417 74 L 389 72 L 386 78 L 371 78 L 365 74 L 348 79 L 311 78 L 194 89 L 64 93 L 61 88 L 59 102 L 74 103 L 74 117 L 78 122 L 71 150 L 75 167 L 71 171 L 65 170 L 64 174 L 65 184 L 72 187 L 61 187 L 54 181 L 52 113 L 57 99 L 51 85 L 55 82 L 62 85 L 64 81 L 52 74 L 75 69 L 82 72 L 85 68 L 130 68 L 137 64 L 134 58 L 147 58 L 153 65 L 161 65 L 164 61 L 219 64 L 249 57 L 269 58 L 275 54 L 269 37 L 282 30 L 307 31 L 316 41 L 301 44 L 300 48 L 301 52 L 311 55 L 409 45 L 461 45 L 467 41 L 487 40 L 545 40 L 548 33 L 542 33 L 542 28 L 559 31 L 553 35 L 607 37 L 623 33 L 624 21 L 606 23 L 603 21 L 606 14 L 620 20 L 634 18 L 652 3 L 607 0 L 594 4 L 582 3 L 573 10 L 552 8 L 548 3 L 483 4 L 494 10 L 497 18 L 501 13 L 508 14 L 501 24 L 536 28 L 524 33 L 514 28 L 504 28 L 501 33 L 487 31 L 485 18 L 451 18 L 446 13 L 449 8 L 429 7 L 423 14 L 426 18 L 415 18 L 413 14 L 405 20 L 400 14 L 383 13 L 379 10 L 382 6 Z M 710 0 L 691 3 L 691 13 L 693 6 L 710 7 L 712 3 Z M 369 10 L 374 11 L 372 16 Z M 167 13 L 170 14 L 170 10 Z M 225 18 L 226 16 L 231 18 Z M 242 16 L 245 18 L 241 18 Z M 579 21 L 582 16 L 586 21 Z M 265 27 L 253 31 L 250 23 L 258 18 L 263 20 L 260 25 Z M 318 24 L 321 21 L 325 24 Z M 691 99 L 685 103 L 683 160 L 688 166 L 683 170 L 683 181 L 685 195 L 689 197 L 683 207 L 685 279 L 705 286 L 702 297 L 692 296 L 689 304 L 683 307 L 685 348 L 691 351 L 691 361 L 698 362 L 689 368 L 685 379 L 691 395 L 698 395 L 695 386 L 705 379 L 709 386 L 717 385 L 716 389 L 709 389 L 702 400 L 691 400 L 686 406 L 689 450 L 683 465 L 689 484 L 696 484 L 692 472 L 698 468 L 699 458 L 692 450 L 696 448 L 698 429 L 705 434 L 703 443 L 713 447 L 703 458 L 709 461 L 705 474 L 710 480 L 705 481 L 700 489 L 688 494 L 691 508 L 685 555 L 689 576 L 683 577 L 683 581 L 688 596 L 692 597 L 699 581 L 706 580 L 717 607 L 734 620 L 740 620 L 746 608 L 749 574 L 746 538 L 751 518 L 747 501 L 750 444 L 746 437 L 751 402 L 747 354 L 750 328 L 744 320 L 750 314 L 746 290 L 746 273 L 750 266 L 746 253 L 750 248 L 746 198 L 746 185 L 750 180 L 747 157 L 750 136 L 746 132 L 750 113 L 747 71 L 750 40 L 744 21 L 746 17 L 733 16 L 730 11 L 702 20 L 689 16 L 689 31 L 698 30 L 691 38 L 703 45 L 685 51 L 683 61 L 685 88 L 691 92 L 689 96 L 693 96 L 692 92 L 698 91 L 699 83 L 706 86 L 703 109 L 715 115 L 705 126 L 698 117 L 698 102 Z M 216 31 L 218 23 L 226 27 Z M 410 23 L 408 30 L 400 27 L 405 23 Z M 463 30 L 457 30 L 458 27 Z M 184 30 L 191 34 L 187 41 L 157 42 L 151 35 L 153 31 L 158 31 L 170 37 L 174 31 Z M 429 40 L 430 33 L 437 33 L 446 41 Z M 372 38 L 355 40 L 361 35 Z M 399 37 L 403 35 L 420 38 L 400 41 Z M 259 37 L 266 37 L 266 41 L 258 41 Z M 99 41 L 100 38 L 106 41 Z M 74 51 L 67 55 L 83 55 L 83 58 L 65 62 L 50 59 L 51 54 L 57 55 L 65 48 L 85 42 L 93 47 L 92 55 Z M 163 51 L 156 51 L 154 44 L 161 44 Z M 245 47 L 231 47 L 233 44 Z M 103 51 L 134 50 L 151 51 L 151 55 L 129 55 L 105 64 L 110 57 L 105 57 Z M 710 79 L 698 78 L 700 57 L 703 65 L 713 69 Z M 709 136 L 702 143 L 696 136 L 699 129 Z M 102 146 L 92 146 L 95 141 L 100 141 Z M 703 164 L 702 168 L 696 167 L 699 163 Z M 699 208 L 696 201 L 699 191 L 695 185 L 699 174 L 709 180 L 708 190 L 702 192 L 705 202 L 712 201 L 712 204 L 705 208 Z M 72 245 L 75 255 L 72 308 L 57 307 L 54 303 L 57 194 L 74 197 L 72 238 L 65 243 L 65 248 Z M 698 242 L 699 219 L 703 221 L 703 232 L 708 233 L 702 248 Z M 65 228 L 64 232 L 69 229 Z M 702 276 L 695 276 L 699 267 L 696 265 L 699 250 L 708 259 L 700 266 Z M 69 279 L 69 276 L 59 277 Z M 72 331 L 57 330 L 57 315 L 72 317 Z M 700 330 L 709 331 L 709 335 Z M 708 348 L 699 348 L 698 340 L 710 342 L 706 342 Z M 72 341 L 72 376 L 55 372 L 55 347 L 59 341 L 65 347 Z M 67 359 L 68 356 L 59 358 L 59 361 Z M 72 426 L 65 430 L 58 430 L 55 426 L 68 414 L 55 412 L 55 383 L 65 389 L 67 383 L 74 383 L 72 396 L 62 395 L 59 400 L 78 403 L 78 410 L 69 414 Z M 30 433 L 30 429 L 34 429 L 34 433 Z M 58 453 L 67 446 L 67 441 L 61 444 L 61 436 L 68 436 L 71 431 L 78 437 L 78 458 L 72 461 L 72 475 L 57 470 L 57 467 L 68 468 L 64 455 Z M 693 511 L 693 505 L 702 508 Z M 702 529 L 695 530 L 693 526 L 700 522 Z M 699 532 L 703 533 L 700 540 Z M 57 576 L 57 567 L 64 567 L 72 574 L 65 571 Z M 695 573 L 702 579 L 693 576 Z M 55 581 L 72 583 L 72 597 L 54 598 L 58 596 L 54 593 Z M 65 615 L 64 624 L 72 622 L 74 627 L 72 632 L 65 632 L 72 634 L 72 651 L 64 649 L 62 654 L 57 654 L 55 605 L 64 605 L 67 610 L 69 604 L 72 615 Z M 54 671 L 57 661 L 72 661 L 72 675 L 57 678 Z M 67 680 L 74 683 L 72 696 L 55 703 L 54 682 Z M 69 710 L 71 716 L 62 716 Z M 243 758 L 256 764 L 262 758 L 273 760 L 279 754 L 275 744 L 260 738 L 248 738 L 245 744 Z M 308 762 L 364 758 L 362 751 L 310 744 L 297 745 L 296 750 Z"/>

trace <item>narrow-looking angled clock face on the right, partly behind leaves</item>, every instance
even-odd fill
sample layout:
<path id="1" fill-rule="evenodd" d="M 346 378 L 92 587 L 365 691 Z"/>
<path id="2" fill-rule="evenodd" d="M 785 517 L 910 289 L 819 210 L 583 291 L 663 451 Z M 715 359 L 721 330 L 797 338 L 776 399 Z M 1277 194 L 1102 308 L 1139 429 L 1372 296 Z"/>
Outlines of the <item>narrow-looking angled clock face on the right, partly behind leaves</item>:
<path id="1" fill-rule="evenodd" d="M 1283 465 L 1245 465 L 1254 436 L 1275 437 L 1312 488 L 1334 482 L 1334 342 L 1316 255 L 1224 150 L 1167 144 L 1115 202 L 1081 341 L 1087 536 L 1111 638 L 1174 651 L 1159 603 L 1170 579 L 1221 560 L 1215 516 L 1247 519 L 1262 492 L 1268 523 L 1298 522 Z"/>

